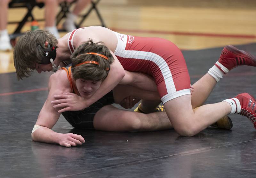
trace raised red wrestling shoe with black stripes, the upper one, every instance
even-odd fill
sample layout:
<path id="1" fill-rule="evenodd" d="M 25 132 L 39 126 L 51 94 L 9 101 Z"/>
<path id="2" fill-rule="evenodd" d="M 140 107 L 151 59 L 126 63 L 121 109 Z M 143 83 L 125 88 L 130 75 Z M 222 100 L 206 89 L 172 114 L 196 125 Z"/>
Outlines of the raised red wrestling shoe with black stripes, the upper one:
<path id="1" fill-rule="evenodd" d="M 226 74 L 229 70 L 239 65 L 256 66 L 256 57 L 232 45 L 228 45 L 223 48 L 215 65 Z"/>

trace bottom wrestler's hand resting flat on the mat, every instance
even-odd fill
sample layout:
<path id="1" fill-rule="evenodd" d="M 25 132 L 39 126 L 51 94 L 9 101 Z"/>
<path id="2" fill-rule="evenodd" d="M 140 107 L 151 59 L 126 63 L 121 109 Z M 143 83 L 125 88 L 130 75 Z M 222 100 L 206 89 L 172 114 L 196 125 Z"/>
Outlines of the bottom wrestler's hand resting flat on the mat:
<path id="1" fill-rule="evenodd" d="M 85 143 L 84 138 L 81 135 L 73 134 L 73 133 L 60 133 L 58 135 L 59 144 L 61 146 L 71 147 L 76 145 L 82 145 Z"/>

